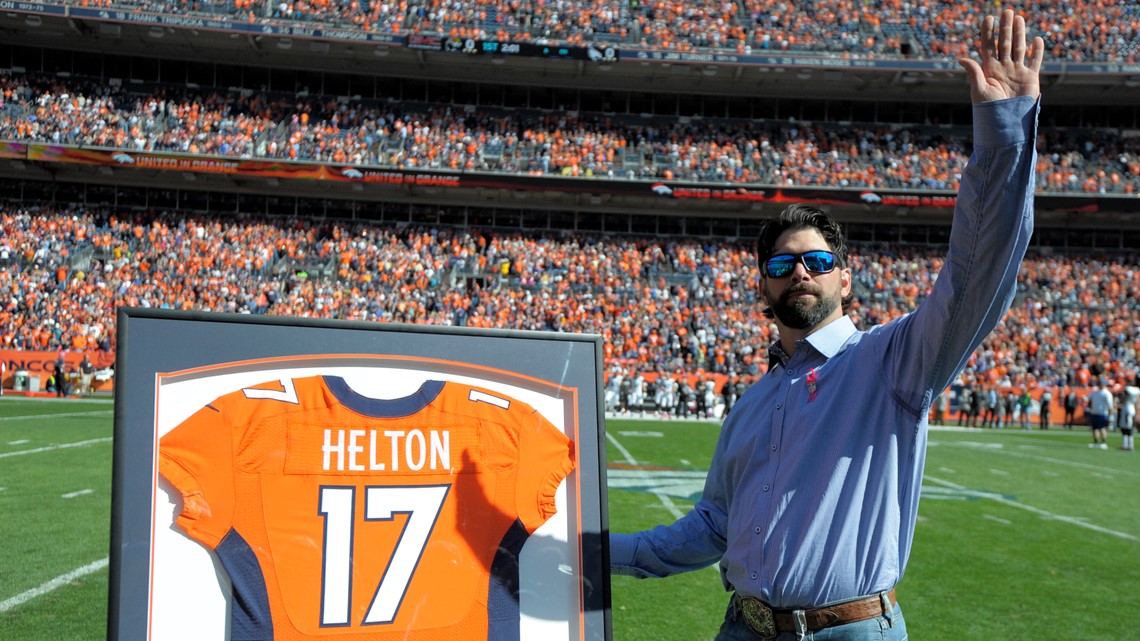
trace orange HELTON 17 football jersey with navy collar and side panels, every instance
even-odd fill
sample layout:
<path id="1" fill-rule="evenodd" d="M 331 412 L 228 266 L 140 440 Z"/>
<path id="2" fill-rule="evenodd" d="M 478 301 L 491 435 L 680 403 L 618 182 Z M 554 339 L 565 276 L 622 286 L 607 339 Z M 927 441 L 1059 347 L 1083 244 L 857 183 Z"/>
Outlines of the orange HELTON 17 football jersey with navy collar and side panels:
<path id="1" fill-rule="evenodd" d="M 158 457 L 250 641 L 518 639 L 518 554 L 573 469 L 516 399 L 439 381 L 374 399 L 334 376 L 225 395 Z"/>

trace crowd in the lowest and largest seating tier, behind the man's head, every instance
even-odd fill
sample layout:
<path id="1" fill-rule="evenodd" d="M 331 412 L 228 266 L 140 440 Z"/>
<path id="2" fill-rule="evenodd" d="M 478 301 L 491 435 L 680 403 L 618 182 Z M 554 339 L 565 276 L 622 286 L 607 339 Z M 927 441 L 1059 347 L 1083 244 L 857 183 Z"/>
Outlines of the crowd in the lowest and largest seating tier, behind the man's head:
<path id="1" fill-rule="evenodd" d="M 597 333 L 608 368 L 754 380 L 774 325 L 732 242 L 3 205 L 0 348 L 114 350 L 120 306 Z M 943 248 L 860 245 L 848 314 L 912 310 Z M 1132 380 L 1134 253 L 1032 255 L 962 376 L 986 388 Z"/>

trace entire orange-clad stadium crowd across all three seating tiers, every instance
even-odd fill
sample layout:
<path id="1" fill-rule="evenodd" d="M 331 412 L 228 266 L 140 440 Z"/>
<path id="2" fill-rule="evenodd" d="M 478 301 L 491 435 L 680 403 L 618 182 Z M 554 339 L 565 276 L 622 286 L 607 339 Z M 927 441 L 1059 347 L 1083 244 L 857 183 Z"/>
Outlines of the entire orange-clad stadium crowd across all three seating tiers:
<path id="1" fill-rule="evenodd" d="M 811 51 L 952 58 L 970 43 L 960 2 L 773 0 L 83 0 L 85 6 L 302 21 L 375 33 L 542 40 L 679 51 Z M 1039 3 L 1054 60 L 1135 62 L 1140 9 Z M 235 159 L 598 179 L 956 189 L 969 128 L 538 112 L 343 96 L 199 89 L 13 73 L 0 140 Z M 1047 128 L 1037 189 L 1133 195 L 1140 138 Z M 129 157 L 129 155 L 127 156 Z M 129 161 L 123 161 L 129 162 Z M 678 378 L 700 405 L 709 376 L 767 367 L 774 326 L 741 245 L 583 234 L 393 228 L 206 214 L 0 205 L 0 347 L 115 350 L 120 306 L 598 333 L 608 371 Z M 855 252 L 863 326 L 913 309 L 942 249 Z M 1140 276 L 1130 255 L 1031 255 L 1018 301 L 962 384 L 1085 387 L 1137 372 Z M 730 381 L 726 386 L 733 387 Z M 689 389 L 685 388 L 689 386 Z M 708 405 L 705 405 L 706 409 Z"/>

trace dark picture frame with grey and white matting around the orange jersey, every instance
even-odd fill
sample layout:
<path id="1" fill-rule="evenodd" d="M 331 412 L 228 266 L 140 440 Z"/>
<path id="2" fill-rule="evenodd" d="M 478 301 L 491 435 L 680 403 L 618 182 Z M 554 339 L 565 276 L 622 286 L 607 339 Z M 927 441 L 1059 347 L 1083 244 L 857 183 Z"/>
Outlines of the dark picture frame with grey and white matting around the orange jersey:
<path id="1" fill-rule="evenodd" d="M 229 607 L 225 570 L 215 559 L 203 561 L 211 553 L 189 538 L 169 543 L 185 534 L 158 522 L 170 519 L 162 510 L 177 500 L 157 473 L 161 430 L 251 381 L 314 371 L 358 374 L 381 387 L 416 384 L 420 375 L 497 386 L 563 429 L 576 456 L 560 489 L 567 509 L 559 513 L 567 516 L 554 521 L 553 536 L 531 536 L 520 554 L 521 639 L 546 641 L 551 631 L 554 641 L 563 631 L 568 641 L 611 639 L 601 336 L 121 308 L 117 338 L 109 641 L 168 641 L 187 622 L 218 630 L 217 610 Z M 531 547 L 534 558 L 563 562 L 528 566 Z M 209 577 L 215 591 L 195 587 Z M 217 635 L 226 639 L 226 630 Z"/>

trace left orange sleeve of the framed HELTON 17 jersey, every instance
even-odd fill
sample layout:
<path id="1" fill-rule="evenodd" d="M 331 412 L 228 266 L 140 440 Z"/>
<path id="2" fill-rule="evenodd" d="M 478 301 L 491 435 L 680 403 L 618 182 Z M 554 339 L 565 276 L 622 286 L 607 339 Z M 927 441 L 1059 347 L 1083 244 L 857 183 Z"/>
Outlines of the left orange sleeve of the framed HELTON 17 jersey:
<path id="1" fill-rule="evenodd" d="M 215 549 L 233 525 L 236 503 L 233 435 L 215 405 L 206 405 L 158 443 L 158 473 L 182 496 L 176 522 Z"/>

